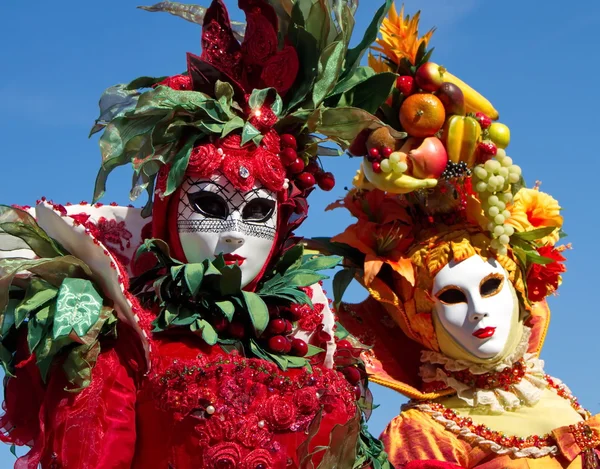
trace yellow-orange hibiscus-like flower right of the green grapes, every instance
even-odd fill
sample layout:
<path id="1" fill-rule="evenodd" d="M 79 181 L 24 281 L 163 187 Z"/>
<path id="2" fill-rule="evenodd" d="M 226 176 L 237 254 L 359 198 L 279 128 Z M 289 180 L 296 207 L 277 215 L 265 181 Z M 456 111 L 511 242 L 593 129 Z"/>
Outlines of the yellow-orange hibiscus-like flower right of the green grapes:
<path id="1" fill-rule="evenodd" d="M 563 217 L 560 215 L 558 201 L 550 195 L 536 189 L 521 189 L 508 207 L 511 216 L 507 223 L 517 231 L 532 231 L 538 228 L 554 226 L 557 229 L 541 241 L 543 246 L 556 244 L 560 239 Z"/>

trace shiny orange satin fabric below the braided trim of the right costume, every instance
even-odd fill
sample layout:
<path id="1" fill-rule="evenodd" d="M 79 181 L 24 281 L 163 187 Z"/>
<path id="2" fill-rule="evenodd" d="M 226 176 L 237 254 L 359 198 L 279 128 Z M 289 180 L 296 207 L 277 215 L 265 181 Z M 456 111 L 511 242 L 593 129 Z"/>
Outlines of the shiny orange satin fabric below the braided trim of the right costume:
<path id="1" fill-rule="evenodd" d="M 580 455 L 571 462 L 562 456 L 514 458 L 472 447 L 418 409 L 409 409 L 394 418 L 380 438 L 395 467 L 433 459 L 465 469 L 582 469 Z"/>

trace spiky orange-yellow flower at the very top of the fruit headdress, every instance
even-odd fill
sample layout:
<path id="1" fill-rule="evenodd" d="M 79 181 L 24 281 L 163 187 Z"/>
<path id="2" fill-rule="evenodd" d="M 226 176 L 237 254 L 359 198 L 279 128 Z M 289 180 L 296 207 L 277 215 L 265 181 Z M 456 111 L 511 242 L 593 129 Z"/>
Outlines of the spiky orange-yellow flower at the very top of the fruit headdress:
<path id="1" fill-rule="evenodd" d="M 378 53 L 380 57 L 374 57 L 375 54 L 370 54 L 369 66 L 375 71 L 388 71 L 383 57 L 391 60 L 395 64 L 399 64 L 402 58 L 406 58 L 411 64 L 415 64 L 417 51 L 422 43 L 427 46 L 429 39 L 435 28 L 432 28 L 423 37 L 419 38 L 419 17 L 421 12 L 417 12 L 412 18 L 410 15 L 404 17 L 404 5 L 400 10 L 400 14 L 396 11 L 396 6 L 392 4 L 390 12 L 381 24 L 381 38 L 375 41 L 372 51 Z"/>

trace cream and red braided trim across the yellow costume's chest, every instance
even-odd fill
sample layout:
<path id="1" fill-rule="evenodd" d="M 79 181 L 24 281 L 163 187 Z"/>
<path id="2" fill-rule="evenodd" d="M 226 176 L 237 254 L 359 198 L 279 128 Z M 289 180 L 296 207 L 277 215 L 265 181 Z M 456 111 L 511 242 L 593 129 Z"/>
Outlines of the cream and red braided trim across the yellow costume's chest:
<path id="1" fill-rule="evenodd" d="M 529 448 L 522 449 L 519 449 L 516 446 L 502 446 L 494 441 L 486 440 L 484 437 L 473 433 L 467 427 L 461 427 L 453 420 L 444 417 L 442 412 L 433 409 L 428 404 L 414 404 L 411 405 L 411 407 L 417 408 L 430 415 L 431 418 L 433 418 L 436 422 L 441 423 L 446 430 L 451 431 L 459 437 L 467 440 L 471 445 L 489 448 L 490 451 L 493 451 L 496 454 L 511 454 L 517 458 L 542 458 L 544 456 L 548 456 L 549 454 L 557 454 L 558 452 L 558 448 L 555 445 L 543 446 L 541 448 L 531 446 Z"/>

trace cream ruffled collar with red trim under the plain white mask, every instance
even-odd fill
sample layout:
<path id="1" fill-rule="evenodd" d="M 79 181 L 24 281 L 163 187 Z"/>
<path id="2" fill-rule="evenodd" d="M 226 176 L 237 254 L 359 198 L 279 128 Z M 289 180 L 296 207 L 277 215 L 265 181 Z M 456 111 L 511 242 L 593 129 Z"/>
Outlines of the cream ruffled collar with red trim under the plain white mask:
<path id="1" fill-rule="evenodd" d="M 514 352 L 493 364 L 454 360 L 438 352 L 423 351 L 424 364 L 419 374 L 425 383 L 443 383 L 467 405 L 484 412 L 503 413 L 534 406 L 548 383 L 544 361 L 527 353 L 530 336 L 531 329 L 525 328 Z"/>

